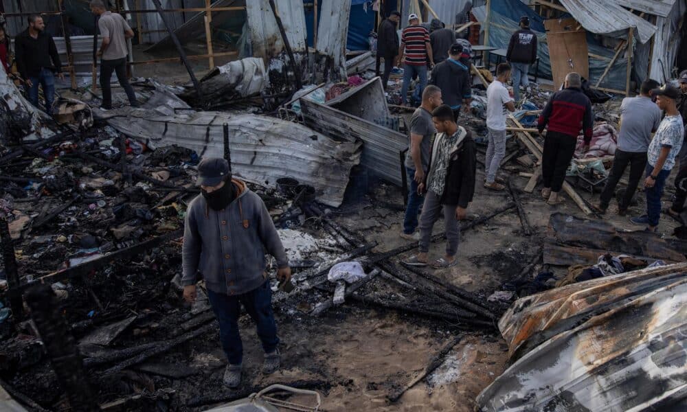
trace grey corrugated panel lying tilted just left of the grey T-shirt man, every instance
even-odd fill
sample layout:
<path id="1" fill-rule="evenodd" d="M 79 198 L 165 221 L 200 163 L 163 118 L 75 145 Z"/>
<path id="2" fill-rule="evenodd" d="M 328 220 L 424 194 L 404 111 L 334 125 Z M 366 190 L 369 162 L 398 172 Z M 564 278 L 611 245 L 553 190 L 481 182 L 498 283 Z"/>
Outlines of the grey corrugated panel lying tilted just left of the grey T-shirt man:
<path id="1" fill-rule="evenodd" d="M 390 183 L 402 184 L 401 152 L 408 147 L 405 135 L 311 100 L 300 99 L 300 104 L 308 127 L 342 141 L 363 141 L 361 165 Z"/>

